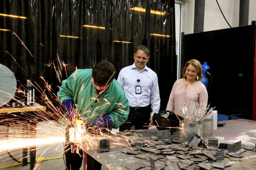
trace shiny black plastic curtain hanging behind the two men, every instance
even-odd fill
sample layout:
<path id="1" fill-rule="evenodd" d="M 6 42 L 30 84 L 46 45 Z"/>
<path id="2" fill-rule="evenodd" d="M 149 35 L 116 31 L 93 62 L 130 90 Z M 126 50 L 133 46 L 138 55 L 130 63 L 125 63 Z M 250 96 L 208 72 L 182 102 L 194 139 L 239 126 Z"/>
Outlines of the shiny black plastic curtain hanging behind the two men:
<path id="1" fill-rule="evenodd" d="M 18 84 L 31 77 L 42 85 L 43 75 L 54 88 L 59 80 L 53 64 L 46 65 L 57 54 L 68 64 L 68 76 L 76 67 L 93 68 L 96 62 L 108 60 L 117 78 L 123 67 L 133 64 L 135 47 L 143 44 L 150 50 L 147 66 L 158 75 L 161 110 L 165 110 L 176 80 L 174 14 L 174 0 L 3 0 L 0 63 L 15 73 Z"/>

